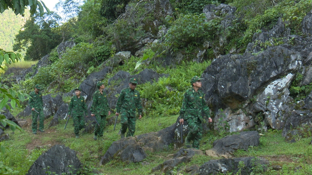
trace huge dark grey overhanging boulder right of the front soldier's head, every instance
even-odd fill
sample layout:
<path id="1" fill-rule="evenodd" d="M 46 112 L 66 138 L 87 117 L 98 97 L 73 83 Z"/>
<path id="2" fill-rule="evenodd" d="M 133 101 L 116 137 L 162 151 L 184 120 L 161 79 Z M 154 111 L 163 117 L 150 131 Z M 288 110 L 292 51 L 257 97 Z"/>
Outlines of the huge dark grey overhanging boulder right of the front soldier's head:
<path id="1" fill-rule="evenodd" d="M 256 56 L 227 54 L 215 59 L 203 72 L 202 91 L 214 110 L 237 108 L 278 77 L 297 71 L 300 60 L 300 53 L 281 45 Z"/>

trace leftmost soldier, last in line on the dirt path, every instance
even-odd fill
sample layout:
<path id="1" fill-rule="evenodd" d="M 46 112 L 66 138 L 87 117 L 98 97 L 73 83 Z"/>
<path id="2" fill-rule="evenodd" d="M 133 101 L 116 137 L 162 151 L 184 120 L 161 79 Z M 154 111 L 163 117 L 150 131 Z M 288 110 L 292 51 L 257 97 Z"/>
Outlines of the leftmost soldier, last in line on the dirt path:
<path id="1" fill-rule="evenodd" d="M 38 131 L 44 132 L 43 122 L 44 122 L 44 114 L 43 114 L 43 102 L 42 102 L 42 94 L 40 92 L 41 86 L 35 85 L 35 91 L 31 92 L 29 95 L 32 98 L 29 98 L 28 104 L 32 108 L 32 133 L 37 134 L 37 118 L 39 115 L 39 129 Z M 37 112 L 38 113 L 37 113 Z"/>

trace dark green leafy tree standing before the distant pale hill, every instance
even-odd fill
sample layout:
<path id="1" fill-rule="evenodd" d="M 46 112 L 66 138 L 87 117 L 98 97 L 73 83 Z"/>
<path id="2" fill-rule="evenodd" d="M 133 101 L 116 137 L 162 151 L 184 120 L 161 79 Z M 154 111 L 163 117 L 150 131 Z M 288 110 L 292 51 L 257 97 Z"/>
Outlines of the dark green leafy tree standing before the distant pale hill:
<path id="1" fill-rule="evenodd" d="M 26 50 L 24 60 L 41 59 L 62 41 L 60 33 L 55 30 L 60 20 L 55 12 L 44 13 L 43 16 L 34 14 L 26 21 L 24 30 L 16 35 L 13 50 Z"/>

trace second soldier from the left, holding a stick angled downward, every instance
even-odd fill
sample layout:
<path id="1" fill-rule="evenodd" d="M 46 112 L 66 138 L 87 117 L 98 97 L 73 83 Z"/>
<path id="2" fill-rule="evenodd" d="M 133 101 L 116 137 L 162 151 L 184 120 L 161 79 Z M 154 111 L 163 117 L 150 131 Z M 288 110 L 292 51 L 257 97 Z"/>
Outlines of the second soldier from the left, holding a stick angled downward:
<path id="1" fill-rule="evenodd" d="M 73 98 L 71 98 L 71 103 L 69 104 L 68 109 L 68 117 L 72 116 L 75 124 L 74 132 L 76 138 L 79 138 L 79 131 L 85 128 L 85 118 L 83 117 L 83 112 L 85 112 L 85 116 L 88 117 L 88 108 L 85 104 L 85 98 L 80 96 L 81 89 L 76 88 L 75 94 Z"/>

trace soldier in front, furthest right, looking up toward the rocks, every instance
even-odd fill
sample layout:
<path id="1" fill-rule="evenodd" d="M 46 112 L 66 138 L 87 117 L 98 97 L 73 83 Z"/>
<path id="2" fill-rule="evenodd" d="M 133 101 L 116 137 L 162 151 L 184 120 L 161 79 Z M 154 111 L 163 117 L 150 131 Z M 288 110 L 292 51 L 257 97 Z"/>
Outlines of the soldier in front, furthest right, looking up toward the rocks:
<path id="1" fill-rule="evenodd" d="M 192 88 L 184 93 L 183 103 L 180 110 L 180 123 L 186 120 L 188 122 L 189 132 L 185 139 L 185 145 L 191 147 L 191 141 L 193 140 L 193 148 L 199 149 L 199 142 L 202 139 L 202 111 L 204 115 L 208 117 L 209 122 L 212 122 L 212 118 L 209 115 L 209 108 L 205 103 L 204 94 L 200 87 L 202 87 L 202 78 L 194 76 L 191 79 Z"/>

